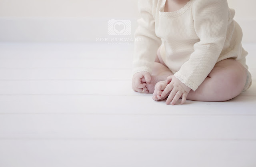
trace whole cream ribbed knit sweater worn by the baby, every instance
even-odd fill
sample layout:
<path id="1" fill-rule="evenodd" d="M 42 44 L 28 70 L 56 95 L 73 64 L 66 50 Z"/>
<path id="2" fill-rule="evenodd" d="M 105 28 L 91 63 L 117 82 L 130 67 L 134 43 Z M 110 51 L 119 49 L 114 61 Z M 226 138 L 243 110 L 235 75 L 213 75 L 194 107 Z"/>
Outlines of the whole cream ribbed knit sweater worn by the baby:
<path id="1" fill-rule="evenodd" d="M 232 58 L 248 69 L 242 30 L 226 0 L 190 0 L 176 12 L 164 12 L 165 2 L 138 1 L 141 18 L 134 37 L 140 40 L 134 42 L 133 75 L 152 74 L 160 46 L 166 66 L 193 91 L 221 60 Z"/>

